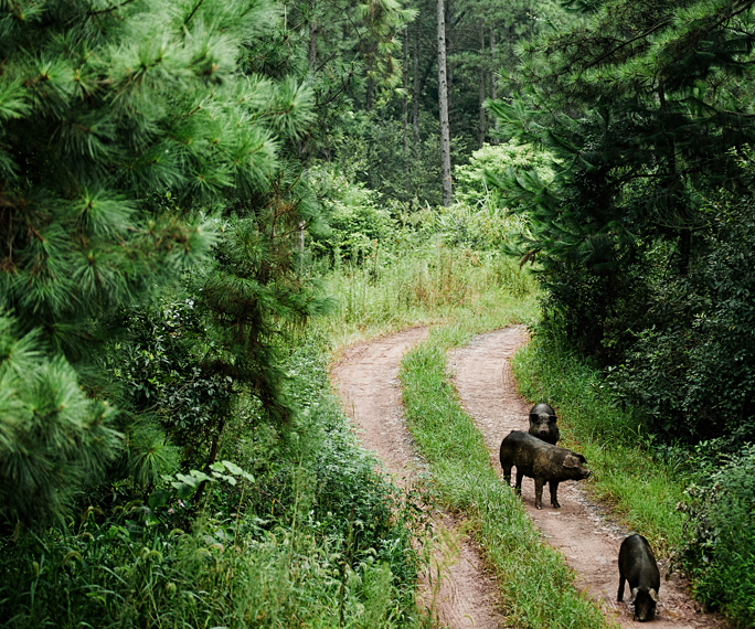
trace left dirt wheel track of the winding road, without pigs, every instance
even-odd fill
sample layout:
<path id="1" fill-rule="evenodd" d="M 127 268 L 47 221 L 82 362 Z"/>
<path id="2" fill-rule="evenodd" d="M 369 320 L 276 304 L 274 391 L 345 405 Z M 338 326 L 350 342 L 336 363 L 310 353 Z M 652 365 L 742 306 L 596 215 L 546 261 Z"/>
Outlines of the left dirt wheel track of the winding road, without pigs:
<path id="1" fill-rule="evenodd" d="M 419 461 L 413 456 L 402 417 L 398 365 L 404 352 L 426 338 L 427 328 L 412 328 L 351 347 L 331 370 L 331 381 L 358 427 L 362 445 L 375 451 L 394 481 L 404 487 L 412 482 Z M 443 578 L 434 596 L 425 593 L 425 603 L 432 604 L 437 620 L 451 629 L 502 627 L 492 606 L 495 586 L 482 572 L 477 551 L 458 533 L 459 523 L 450 515 L 438 513 L 435 520 L 454 542 L 444 545 L 435 557 Z M 457 556 L 449 556 L 455 548 Z"/>

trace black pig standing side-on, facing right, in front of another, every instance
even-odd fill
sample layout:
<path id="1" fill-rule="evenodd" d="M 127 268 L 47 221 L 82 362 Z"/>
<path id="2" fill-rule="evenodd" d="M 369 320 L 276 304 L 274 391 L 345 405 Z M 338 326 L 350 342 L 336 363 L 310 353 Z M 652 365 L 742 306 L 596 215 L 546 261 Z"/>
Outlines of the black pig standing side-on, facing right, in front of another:
<path id="1" fill-rule="evenodd" d="M 500 451 L 503 478 L 511 484 L 511 468 L 517 468 L 517 491 L 522 491 L 522 478 L 530 477 L 535 481 L 535 509 L 543 508 L 543 484 L 547 481 L 551 488 L 551 507 L 559 509 L 557 491 L 562 480 L 583 480 L 589 477 L 584 467 L 587 461 L 566 448 L 552 446 L 533 437 L 529 433 L 511 430 L 501 441 Z"/>

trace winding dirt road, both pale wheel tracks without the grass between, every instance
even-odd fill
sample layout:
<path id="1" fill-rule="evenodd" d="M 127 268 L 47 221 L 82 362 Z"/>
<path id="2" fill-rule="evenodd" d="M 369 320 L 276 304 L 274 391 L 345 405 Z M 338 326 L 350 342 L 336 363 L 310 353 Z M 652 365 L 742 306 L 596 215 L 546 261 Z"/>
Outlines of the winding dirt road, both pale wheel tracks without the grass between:
<path id="1" fill-rule="evenodd" d="M 426 337 L 426 328 L 413 328 L 352 347 L 331 371 L 331 380 L 358 427 L 362 444 L 375 451 L 394 480 L 404 486 L 411 482 L 421 461 L 414 457 L 402 418 L 398 365 L 406 350 Z M 530 404 L 517 394 L 508 362 L 525 342 L 525 330 L 511 327 L 476 337 L 449 356 L 462 405 L 483 434 L 491 465 L 499 471 L 498 448 L 502 438 L 510 430 L 528 428 Z M 564 554 L 576 572 L 577 586 L 598 601 L 606 618 L 615 619 L 621 627 L 638 626 L 632 621 L 629 605 L 616 603 L 618 547 L 630 532 L 612 522 L 575 482 L 565 482 L 559 488 L 562 509 L 552 509 L 546 499 L 543 509 L 535 510 L 532 479 L 525 479 L 522 498 L 544 537 Z M 440 622 L 453 629 L 506 627 L 506 619 L 493 609 L 495 584 L 486 575 L 478 551 L 458 535 L 459 523 L 448 514 L 439 513 L 437 520 L 460 541 L 459 556 L 445 572 L 435 601 Z M 449 557 L 437 557 L 437 561 L 447 565 Z M 661 563 L 660 567 L 663 574 L 666 566 Z M 647 625 L 648 629 L 722 626 L 716 616 L 696 611 L 678 576 L 661 582 L 658 616 Z"/>

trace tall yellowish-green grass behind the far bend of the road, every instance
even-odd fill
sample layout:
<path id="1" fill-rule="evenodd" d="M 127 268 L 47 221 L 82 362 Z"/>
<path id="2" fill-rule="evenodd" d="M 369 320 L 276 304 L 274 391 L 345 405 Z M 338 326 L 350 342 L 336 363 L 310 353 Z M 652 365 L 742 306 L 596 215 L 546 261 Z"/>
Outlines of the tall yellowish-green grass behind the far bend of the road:
<path id="1" fill-rule="evenodd" d="M 515 260 L 440 242 L 374 245 L 322 275 L 337 307 L 313 326 L 337 347 L 411 324 L 448 321 L 459 309 L 504 306 L 528 321 L 538 312 L 533 277 L 520 271 Z"/>

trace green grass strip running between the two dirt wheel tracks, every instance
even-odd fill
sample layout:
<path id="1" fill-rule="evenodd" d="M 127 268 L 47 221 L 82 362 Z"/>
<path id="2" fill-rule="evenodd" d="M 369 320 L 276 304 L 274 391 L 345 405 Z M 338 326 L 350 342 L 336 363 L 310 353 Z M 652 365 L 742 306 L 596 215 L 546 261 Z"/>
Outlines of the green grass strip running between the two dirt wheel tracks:
<path id="1" fill-rule="evenodd" d="M 439 498 L 469 520 L 497 575 L 500 609 L 509 626 L 606 627 L 597 605 L 575 588 L 563 556 L 541 539 L 521 500 L 496 475 L 482 435 L 448 381 L 448 349 L 522 319 L 511 310 L 502 317 L 499 312 L 455 320 L 433 329 L 426 342 L 407 352 L 400 373 L 407 425 Z"/>

